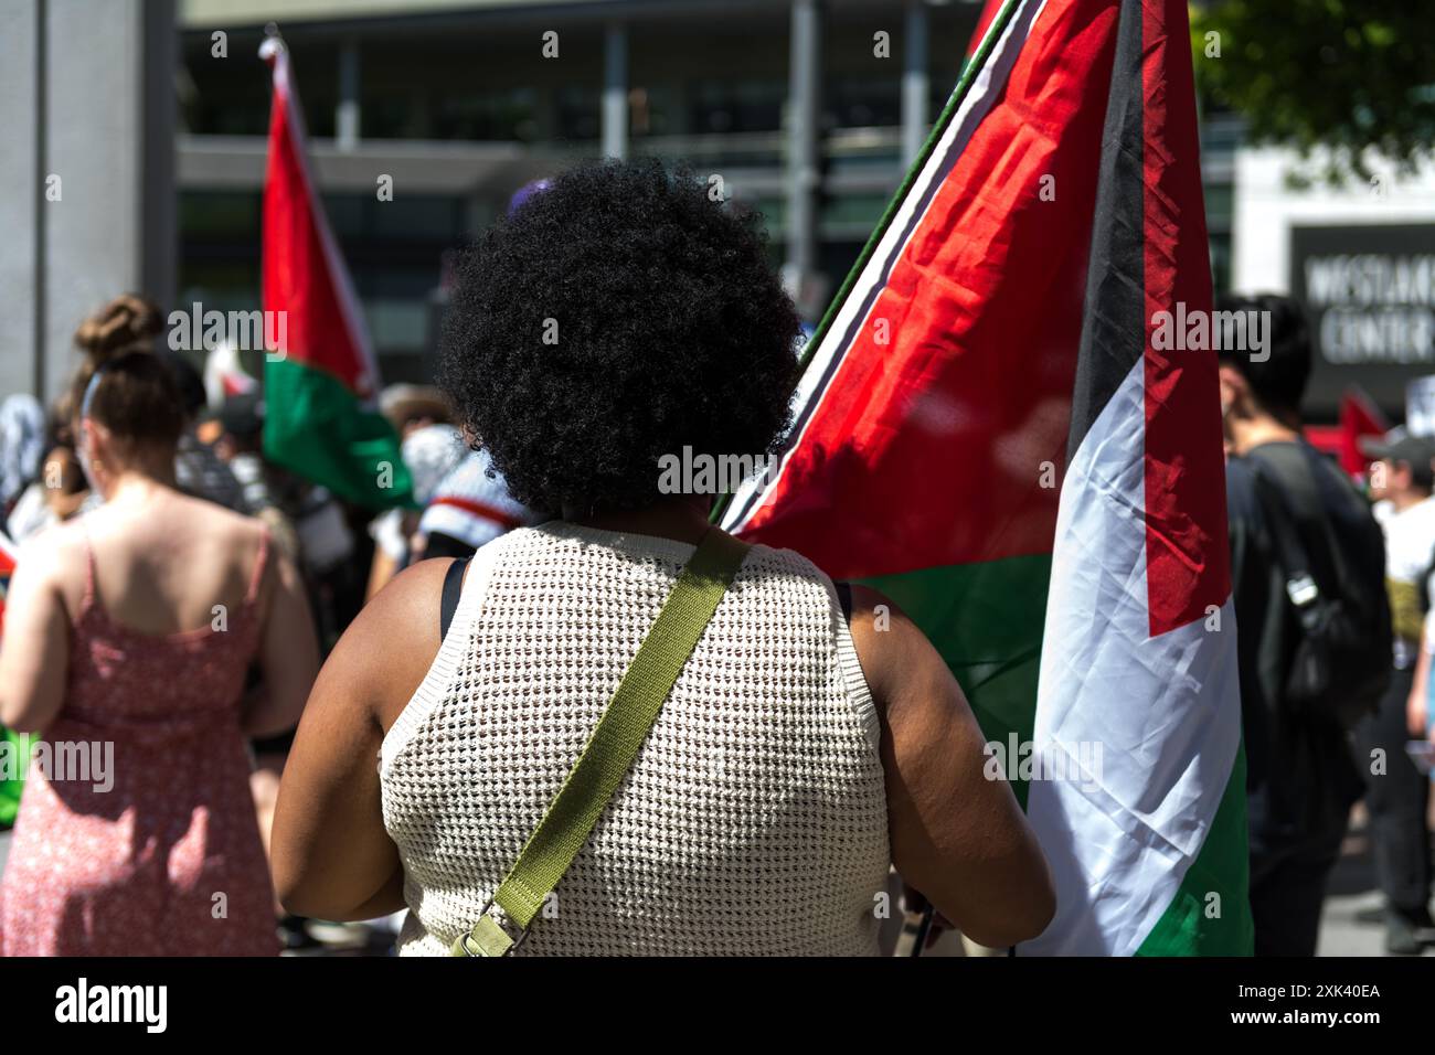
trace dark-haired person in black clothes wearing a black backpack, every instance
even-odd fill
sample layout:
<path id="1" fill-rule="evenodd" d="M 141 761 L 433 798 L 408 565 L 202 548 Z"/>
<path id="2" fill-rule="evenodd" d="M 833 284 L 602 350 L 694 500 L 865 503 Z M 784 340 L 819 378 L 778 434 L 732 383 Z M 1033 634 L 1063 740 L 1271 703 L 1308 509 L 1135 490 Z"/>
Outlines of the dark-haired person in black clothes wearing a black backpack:
<path id="1" fill-rule="evenodd" d="M 1261 313 L 1267 334 L 1220 352 L 1256 955 L 1313 956 L 1362 794 L 1350 729 L 1391 682 L 1385 547 L 1365 498 L 1302 438 L 1300 307 L 1264 294 L 1221 310 Z"/>

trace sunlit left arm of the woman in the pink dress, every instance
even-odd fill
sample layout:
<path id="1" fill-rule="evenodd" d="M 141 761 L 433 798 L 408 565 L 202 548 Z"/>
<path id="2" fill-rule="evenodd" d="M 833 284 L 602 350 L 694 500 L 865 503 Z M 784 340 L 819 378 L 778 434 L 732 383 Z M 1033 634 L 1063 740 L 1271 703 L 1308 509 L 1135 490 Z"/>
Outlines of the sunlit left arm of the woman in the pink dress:
<path id="1" fill-rule="evenodd" d="M 65 705 L 70 617 L 60 578 L 60 550 L 50 531 L 16 560 L 0 634 L 0 722 L 40 732 Z"/>

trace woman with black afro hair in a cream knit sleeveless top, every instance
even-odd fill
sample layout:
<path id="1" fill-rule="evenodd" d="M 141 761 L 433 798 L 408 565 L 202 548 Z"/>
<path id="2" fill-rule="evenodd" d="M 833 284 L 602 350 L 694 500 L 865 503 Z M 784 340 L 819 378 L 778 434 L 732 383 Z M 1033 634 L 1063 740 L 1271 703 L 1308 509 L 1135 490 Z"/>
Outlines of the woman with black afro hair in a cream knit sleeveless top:
<path id="1" fill-rule="evenodd" d="M 773 452 L 796 334 L 751 220 L 656 161 L 573 168 L 468 251 L 441 382 L 551 520 L 403 571 L 334 649 L 274 825 L 291 911 L 408 909 L 405 955 L 485 911 L 519 936 L 495 890 L 680 573 L 723 545 L 713 495 L 663 466 Z M 891 601 L 753 545 L 518 952 L 872 955 L 891 864 L 974 940 L 1033 937 L 1050 877 L 984 761 Z"/>

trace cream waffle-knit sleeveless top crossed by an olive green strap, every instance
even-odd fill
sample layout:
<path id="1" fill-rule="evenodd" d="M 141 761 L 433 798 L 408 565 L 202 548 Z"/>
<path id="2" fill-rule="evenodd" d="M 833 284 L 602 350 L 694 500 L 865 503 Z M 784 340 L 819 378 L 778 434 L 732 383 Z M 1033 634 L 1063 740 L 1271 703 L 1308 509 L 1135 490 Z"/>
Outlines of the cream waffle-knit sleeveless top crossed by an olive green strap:
<path id="1" fill-rule="evenodd" d="M 560 521 L 478 551 L 380 751 L 400 955 L 474 924 L 692 554 Z M 753 547 L 518 955 L 875 955 L 878 735 L 831 580 Z"/>

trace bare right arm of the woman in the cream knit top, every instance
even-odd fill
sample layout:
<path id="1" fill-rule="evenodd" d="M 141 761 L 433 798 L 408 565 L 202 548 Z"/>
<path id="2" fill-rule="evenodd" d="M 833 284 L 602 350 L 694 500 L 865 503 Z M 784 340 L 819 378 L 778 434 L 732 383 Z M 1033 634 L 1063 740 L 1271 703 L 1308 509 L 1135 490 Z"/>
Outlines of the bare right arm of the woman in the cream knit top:
<path id="1" fill-rule="evenodd" d="M 852 587 L 851 627 L 883 716 L 897 871 L 974 942 L 1036 937 L 1056 913 L 1050 871 L 1010 785 L 984 775 L 984 738 L 961 686 L 880 593 Z"/>

